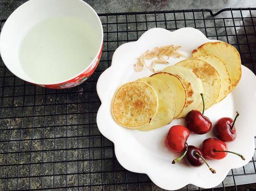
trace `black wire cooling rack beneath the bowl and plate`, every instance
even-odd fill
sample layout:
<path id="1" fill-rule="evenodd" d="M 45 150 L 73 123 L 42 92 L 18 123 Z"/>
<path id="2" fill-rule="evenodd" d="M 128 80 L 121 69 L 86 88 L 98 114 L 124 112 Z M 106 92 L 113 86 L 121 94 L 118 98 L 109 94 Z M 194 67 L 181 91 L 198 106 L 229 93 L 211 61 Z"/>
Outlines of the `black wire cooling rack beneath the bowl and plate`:
<path id="1" fill-rule="evenodd" d="M 113 143 L 96 124 L 96 84 L 113 52 L 154 27 L 194 27 L 208 38 L 233 44 L 256 73 L 256 8 L 100 14 L 104 50 L 94 74 L 78 87 L 51 90 L 15 77 L 0 60 L 0 190 L 161 190 L 147 175 L 117 162 Z M 1 27 L 5 20 L 1 21 Z M 256 154 L 233 169 L 219 188 L 256 188 Z M 170 183 L 171 184 L 171 183 Z M 201 190 L 188 185 L 183 190 Z"/>

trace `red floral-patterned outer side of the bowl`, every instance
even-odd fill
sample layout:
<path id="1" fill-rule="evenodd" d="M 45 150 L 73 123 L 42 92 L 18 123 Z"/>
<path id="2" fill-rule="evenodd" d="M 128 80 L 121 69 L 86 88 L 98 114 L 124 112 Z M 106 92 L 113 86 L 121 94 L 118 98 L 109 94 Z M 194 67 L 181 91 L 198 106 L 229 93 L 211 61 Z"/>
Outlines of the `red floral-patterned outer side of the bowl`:
<path id="1" fill-rule="evenodd" d="M 95 69 L 97 68 L 99 62 L 100 62 L 100 56 L 102 53 L 102 49 L 103 49 L 103 44 L 101 45 L 100 48 L 100 52 L 97 56 L 97 58 L 91 63 L 91 65 L 80 75 L 78 75 L 77 77 L 69 80 L 69 81 L 65 81 L 61 84 L 52 84 L 52 85 L 40 85 L 40 84 L 35 84 L 44 88 L 51 88 L 51 89 L 66 89 L 66 88 L 73 88 L 77 85 L 80 85 L 81 83 L 83 83 L 85 80 L 87 80 L 87 78 L 89 78 L 92 73 L 95 71 Z"/>

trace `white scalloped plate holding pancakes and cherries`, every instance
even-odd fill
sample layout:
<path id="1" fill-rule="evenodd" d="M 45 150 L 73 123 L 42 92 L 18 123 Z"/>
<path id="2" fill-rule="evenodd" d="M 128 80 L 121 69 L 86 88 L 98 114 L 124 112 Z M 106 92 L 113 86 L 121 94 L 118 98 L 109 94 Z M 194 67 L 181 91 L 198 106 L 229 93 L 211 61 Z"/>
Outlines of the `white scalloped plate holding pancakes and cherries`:
<path id="1" fill-rule="evenodd" d="M 230 169 L 242 167 L 250 161 L 256 134 L 256 76 L 250 69 L 242 66 L 242 78 L 234 91 L 205 111 L 213 125 L 221 117 L 234 118 L 236 111 L 240 113 L 236 122 L 237 138 L 227 145 L 229 150 L 243 154 L 246 160 L 230 153 L 223 160 L 208 160 L 210 166 L 217 171 L 216 174 L 212 174 L 206 165 L 193 168 L 184 161 L 171 164 L 178 155 L 167 150 L 164 138 L 172 125 L 184 125 L 184 119 L 175 119 L 171 124 L 149 132 L 130 130 L 117 125 L 113 120 L 111 101 L 118 87 L 151 74 L 146 69 L 135 72 L 133 67 L 136 58 L 146 50 L 169 44 L 181 45 L 181 52 L 189 57 L 193 49 L 211 41 L 213 40 L 207 39 L 201 31 L 194 28 L 181 28 L 173 32 L 162 28 L 150 29 L 138 41 L 117 48 L 112 65 L 100 75 L 97 83 L 97 93 L 101 100 L 97 125 L 100 132 L 113 141 L 117 160 L 127 170 L 145 173 L 152 182 L 167 190 L 175 190 L 188 184 L 201 188 L 215 187 L 224 180 Z M 181 59 L 170 58 L 172 64 L 179 60 Z M 188 144 L 200 147 L 202 141 L 210 137 L 214 137 L 213 129 L 206 135 L 190 135 Z"/>

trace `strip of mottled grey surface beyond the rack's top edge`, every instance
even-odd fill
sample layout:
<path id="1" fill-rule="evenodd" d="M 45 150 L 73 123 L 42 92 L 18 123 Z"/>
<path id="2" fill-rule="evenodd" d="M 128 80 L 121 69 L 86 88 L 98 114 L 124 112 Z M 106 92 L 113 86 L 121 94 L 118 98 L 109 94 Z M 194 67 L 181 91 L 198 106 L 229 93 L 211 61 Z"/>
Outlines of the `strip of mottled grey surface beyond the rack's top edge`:
<path id="1" fill-rule="evenodd" d="M 1 0 L 0 19 L 6 19 L 27 0 Z M 177 9 L 212 9 L 256 7 L 256 0 L 84 0 L 97 13 L 140 12 Z"/>

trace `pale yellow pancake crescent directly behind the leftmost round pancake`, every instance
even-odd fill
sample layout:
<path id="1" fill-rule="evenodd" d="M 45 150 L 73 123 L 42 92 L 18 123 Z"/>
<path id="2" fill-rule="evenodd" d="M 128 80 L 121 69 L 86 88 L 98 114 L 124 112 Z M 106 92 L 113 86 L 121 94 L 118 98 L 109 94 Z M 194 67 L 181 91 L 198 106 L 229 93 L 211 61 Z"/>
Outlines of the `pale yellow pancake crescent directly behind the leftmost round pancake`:
<path id="1" fill-rule="evenodd" d="M 143 81 L 151 85 L 155 89 L 159 100 L 159 106 L 156 116 L 151 120 L 150 123 L 144 125 L 143 127 L 140 127 L 139 130 L 149 131 L 172 122 L 175 114 L 175 99 L 168 85 L 162 80 L 150 77 L 141 78 L 138 81 Z"/>

